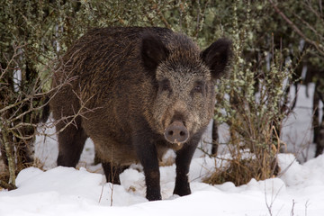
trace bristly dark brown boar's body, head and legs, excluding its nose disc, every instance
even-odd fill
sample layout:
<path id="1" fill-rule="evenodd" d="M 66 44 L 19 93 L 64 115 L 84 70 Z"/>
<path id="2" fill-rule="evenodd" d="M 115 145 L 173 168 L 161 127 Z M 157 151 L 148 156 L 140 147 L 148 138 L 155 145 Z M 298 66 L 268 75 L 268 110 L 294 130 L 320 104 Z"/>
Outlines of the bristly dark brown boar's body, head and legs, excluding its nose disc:
<path id="1" fill-rule="evenodd" d="M 147 198 L 157 200 L 157 158 L 174 148 L 175 193 L 189 194 L 190 161 L 213 115 L 214 78 L 223 74 L 229 47 L 228 40 L 218 40 L 201 52 L 184 34 L 163 28 L 116 27 L 86 33 L 68 49 L 53 80 L 55 87 L 75 77 L 50 102 L 54 119 L 85 111 L 58 134 L 58 165 L 76 166 L 90 137 L 108 181 L 119 182 L 108 172 L 140 162 Z M 179 146 L 164 137 L 173 121 L 183 122 L 190 134 Z M 57 130 L 64 127 L 61 121 Z"/>

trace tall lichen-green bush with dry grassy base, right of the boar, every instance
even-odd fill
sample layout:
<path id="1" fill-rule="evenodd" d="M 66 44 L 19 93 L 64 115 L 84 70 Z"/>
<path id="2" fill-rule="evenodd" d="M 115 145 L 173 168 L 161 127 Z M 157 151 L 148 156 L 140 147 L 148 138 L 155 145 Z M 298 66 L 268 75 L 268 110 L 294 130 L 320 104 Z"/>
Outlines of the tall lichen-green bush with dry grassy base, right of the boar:
<path id="1" fill-rule="evenodd" d="M 217 87 L 215 107 L 215 121 L 229 126 L 230 158 L 205 179 L 209 184 L 247 184 L 251 178 L 264 180 L 277 174 L 276 154 L 284 144 L 280 139 L 281 125 L 291 108 L 287 104 L 293 78 L 291 61 L 285 62 L 283 50 L 275 49 L 274 36 L 267 44 L 269 50 L 254 48 L 257 59 L 249 58 L 248 47 L 255 45 L 250 43 L 251 38 L 257 37 L 249 16 L 252 5 L 245 7 L 247 19 L 240 20 L 239 25 L 238 6 L 232 6 L 231 71 Z"/>

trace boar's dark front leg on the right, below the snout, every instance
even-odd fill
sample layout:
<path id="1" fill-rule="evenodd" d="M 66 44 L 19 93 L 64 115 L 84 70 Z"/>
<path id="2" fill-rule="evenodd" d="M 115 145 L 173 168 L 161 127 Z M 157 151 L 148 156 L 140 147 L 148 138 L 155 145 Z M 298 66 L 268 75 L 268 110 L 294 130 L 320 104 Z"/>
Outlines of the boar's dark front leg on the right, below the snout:
<path id="1" fill-rule="evenodd" d="M 188 180 L 189 167 L 193 158 L 194 150 L 197 148 L 199 140 L 200 139 L 192 139 L 188 143 L 185 143 L 183 148 L 176 151 L 176 177 L 174 194 L 184 196 L 191 193 Z"/>

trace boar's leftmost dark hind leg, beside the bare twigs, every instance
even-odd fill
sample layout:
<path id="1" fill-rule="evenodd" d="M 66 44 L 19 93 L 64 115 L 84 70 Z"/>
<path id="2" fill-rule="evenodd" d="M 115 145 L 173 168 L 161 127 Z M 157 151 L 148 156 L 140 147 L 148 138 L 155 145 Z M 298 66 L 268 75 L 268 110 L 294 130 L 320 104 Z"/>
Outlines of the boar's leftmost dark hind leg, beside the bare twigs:
<path id="1" fill-rule="evenodd" d="M 63 128 L 63 124 L 57 125 L 57 131 Z M 76 167 L 85 146 L 87 136 L 81 127 L 81 119 L 76 118 L 76 125 L 70 124 L 58 133 L 58 166 Z"/>

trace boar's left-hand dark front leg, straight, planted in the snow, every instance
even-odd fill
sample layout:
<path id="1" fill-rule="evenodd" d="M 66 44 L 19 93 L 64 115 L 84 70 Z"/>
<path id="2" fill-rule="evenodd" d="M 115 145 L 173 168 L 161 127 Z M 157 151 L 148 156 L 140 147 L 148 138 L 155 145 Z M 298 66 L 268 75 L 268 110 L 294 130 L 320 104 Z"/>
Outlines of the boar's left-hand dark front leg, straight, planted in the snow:
<path id="1" fill-rule="evenodd" d="M 145 183 L 147 185 L 148 201 L 161 200 L 160 173 L 158 168 L 157 148 L 153 142 L 152 132 L 137 131 L 133 135 L 133 145 L 144 168 Z"/>

